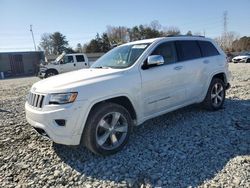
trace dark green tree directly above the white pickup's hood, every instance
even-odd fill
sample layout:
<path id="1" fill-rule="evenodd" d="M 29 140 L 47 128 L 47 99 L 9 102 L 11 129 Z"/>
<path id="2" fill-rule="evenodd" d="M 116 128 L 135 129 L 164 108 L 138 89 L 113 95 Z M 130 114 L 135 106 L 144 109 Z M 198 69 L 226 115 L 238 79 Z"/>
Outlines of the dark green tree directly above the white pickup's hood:
<path id="1" fill-rule="evenodd" d="M 68 41 L 66 40 L 66 37 L 60 32 L 53 33 L 50 38 L 54 54 L 61 54 L 63 51 L 65 51 L 65 49 L 67 49 Z"/>

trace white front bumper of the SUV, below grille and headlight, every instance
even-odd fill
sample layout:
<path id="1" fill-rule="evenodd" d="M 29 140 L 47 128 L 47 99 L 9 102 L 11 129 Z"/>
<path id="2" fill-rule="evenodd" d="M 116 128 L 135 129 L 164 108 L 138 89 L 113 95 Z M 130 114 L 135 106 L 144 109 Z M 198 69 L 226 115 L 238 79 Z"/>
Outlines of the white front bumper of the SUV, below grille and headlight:
<path id="1" fill-rule="evenodd" d="M 78 145 L 84 126 L 84 112 L 80 102 L 44 106 L 37 109 L 25 103 L 26 119 L 43 136 L 58 144 Z M 65 120 L 60 126 L 55 120 Z"/>

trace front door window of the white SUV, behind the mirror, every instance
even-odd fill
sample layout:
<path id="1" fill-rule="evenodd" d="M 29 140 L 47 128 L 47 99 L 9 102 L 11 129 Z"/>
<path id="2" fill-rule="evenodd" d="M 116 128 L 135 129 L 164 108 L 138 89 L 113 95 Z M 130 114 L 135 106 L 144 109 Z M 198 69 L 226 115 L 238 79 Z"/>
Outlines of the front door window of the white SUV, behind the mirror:
<path id="1" fill-rule="evenodd" d="M 167 42 L 160 44 L 156 47 L 151 55 L 161 55 L 164 58 L 164 63 L 174 63 L 176 62 L 176 51 L 173 42 Z"/>

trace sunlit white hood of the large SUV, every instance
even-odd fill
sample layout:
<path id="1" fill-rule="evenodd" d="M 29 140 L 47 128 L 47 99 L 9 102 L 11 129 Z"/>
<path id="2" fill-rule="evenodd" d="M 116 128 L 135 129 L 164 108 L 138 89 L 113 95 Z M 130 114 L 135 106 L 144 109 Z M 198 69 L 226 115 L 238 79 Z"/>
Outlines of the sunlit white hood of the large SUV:
<path id="1" fill-rule="evenodd" d="M 123 72 L 121 69 L 80 69 L 43 79 L 35 83 L 31 90 L 39 93 L 75 91 L 76 87 L 114 79 Z"/>

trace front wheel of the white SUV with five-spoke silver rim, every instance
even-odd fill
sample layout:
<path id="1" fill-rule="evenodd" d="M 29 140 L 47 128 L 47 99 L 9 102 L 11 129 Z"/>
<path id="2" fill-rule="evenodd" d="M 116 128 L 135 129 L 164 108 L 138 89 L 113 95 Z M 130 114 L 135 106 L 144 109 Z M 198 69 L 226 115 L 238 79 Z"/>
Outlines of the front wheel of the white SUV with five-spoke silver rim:
<path id="1" fill-rule="evenodd" d="M 115 103 L 97 105 L 85 125 L 81 145 L 98 155 L 111 155 L 128 142 L 132 118 L 123 106 Z"/>

